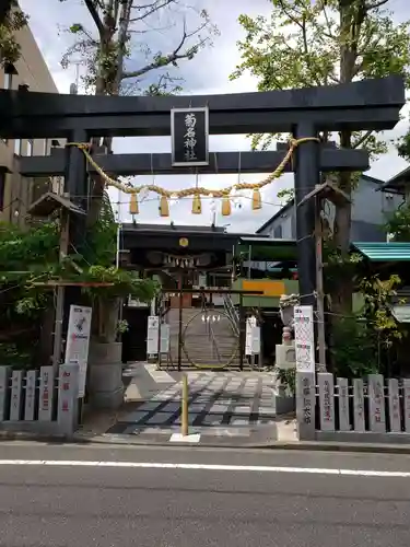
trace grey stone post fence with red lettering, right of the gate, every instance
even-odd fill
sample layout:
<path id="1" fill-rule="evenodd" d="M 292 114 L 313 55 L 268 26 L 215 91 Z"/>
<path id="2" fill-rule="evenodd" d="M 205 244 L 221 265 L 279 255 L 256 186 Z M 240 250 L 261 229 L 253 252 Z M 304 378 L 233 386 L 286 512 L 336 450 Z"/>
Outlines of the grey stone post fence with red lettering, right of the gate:
<path id="1" fill-rule="evenodd" d="M 300 439 L 410 442 L 410 379 L 297 376 Z"/>

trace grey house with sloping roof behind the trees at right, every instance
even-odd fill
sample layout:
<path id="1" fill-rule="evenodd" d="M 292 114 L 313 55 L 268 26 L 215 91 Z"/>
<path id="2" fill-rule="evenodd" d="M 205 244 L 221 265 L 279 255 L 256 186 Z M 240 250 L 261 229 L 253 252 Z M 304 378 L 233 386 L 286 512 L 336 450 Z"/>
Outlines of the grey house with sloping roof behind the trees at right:
<path id="1" fill-rule="evenodd" d="M 380 191 L 383 181 L 362 175 L 352 195 L 352 242 L 384 242 L 387 238 L 384 225 L 388 217 L 400 206 L 402 197 L 393 191 Z M 326 203 L 325 213 L 332 225 L 335 208 Z M 276 240 L 296 238 L 296 211 L 294 201 L 280 209 L 257 231 Z"/>

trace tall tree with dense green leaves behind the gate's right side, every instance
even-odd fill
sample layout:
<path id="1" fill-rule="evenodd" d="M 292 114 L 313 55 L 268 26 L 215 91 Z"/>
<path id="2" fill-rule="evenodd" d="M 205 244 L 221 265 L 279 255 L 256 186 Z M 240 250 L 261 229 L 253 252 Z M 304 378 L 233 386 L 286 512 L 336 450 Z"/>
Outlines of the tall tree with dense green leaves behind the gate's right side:
<path id="1" fill-rule="evenodd" d="M 249 71 L 258 90 L 286 90 L 349 83 L 365 78 L 403 74 L 410 82 L 410 23 L 395 24 L 388 0 L 270 0 L 270 18 L 239 16 L 246 32 L 239 42 L 242 62 L 231 75 Z M 266 147 L 276 136 L 257 135 L 253 146 Z M 326 141 L 331 136 L 323 135 Z M 335 137 L 333 137 L 335 138 Z M 364 148 L 375 158 L 386 143 L 374 131 L 338 136 L 343 148 Z M 358 174 L 337 173 L 349 196 Z M 351 205 L 338 207 L 332 242 L 349 259 Z M 344 276 L 331 295 L 333 311 L 350 313 L 353 283 Z"/>

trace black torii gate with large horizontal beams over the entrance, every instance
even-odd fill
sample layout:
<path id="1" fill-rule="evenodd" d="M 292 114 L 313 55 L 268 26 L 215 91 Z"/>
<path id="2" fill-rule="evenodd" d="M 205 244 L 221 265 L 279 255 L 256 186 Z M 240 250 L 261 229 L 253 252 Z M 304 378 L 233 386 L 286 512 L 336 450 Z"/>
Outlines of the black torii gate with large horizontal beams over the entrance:
<path id="1" fill-rule="evenodd" d="M 171 110 L 208 106 L 212 135 L 289 132 L 295 139 L 316 138 L 319 131 L 385 130 L 399 120 L 405 104 L 400 77 L 365 80 L 333 86 L 227 95 L 110 97 L 0 91 L 0 137 L 66 138 L 89 142 L 91 137 L 150 137 L 171 135 Z M 285 151 L 242 152 L 241 172 L 273 171 Z M 171 154 L 96 156 L 108 173 L 186 173 L 172 167 Z M 237 152 L 210 154 L 199 173 L 235 173 Z M 305 142 L 295 152 L 295 203 L 320 183 L 320 172 L 363 171 L 365 152 L 326 148 Z M 25 175 L 65 175 L 70 199 L 86 195 L 87 166 L 83 153 L 70 147 L 48 158 L 21 158 Z M 315 202 L 306 199 L 296 209 L 297 258 L 302 303 L 314 304 L 316 253 Z"/>

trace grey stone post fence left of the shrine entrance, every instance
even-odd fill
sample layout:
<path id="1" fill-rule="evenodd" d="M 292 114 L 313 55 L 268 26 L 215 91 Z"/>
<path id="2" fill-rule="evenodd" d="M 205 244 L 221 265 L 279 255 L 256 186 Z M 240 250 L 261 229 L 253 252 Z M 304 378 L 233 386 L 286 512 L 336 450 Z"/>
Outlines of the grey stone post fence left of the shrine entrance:
<path id="1" fill-rule="evenodd" d="M 0 366 L 0 430 L 70 434 L 78 416 L 79 366 Z"/>

